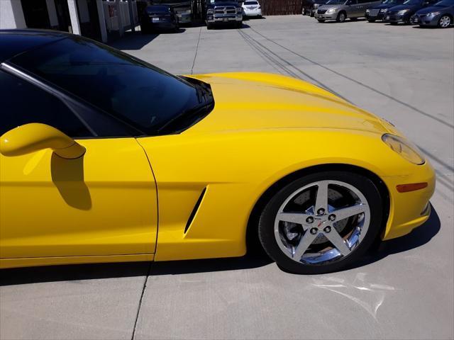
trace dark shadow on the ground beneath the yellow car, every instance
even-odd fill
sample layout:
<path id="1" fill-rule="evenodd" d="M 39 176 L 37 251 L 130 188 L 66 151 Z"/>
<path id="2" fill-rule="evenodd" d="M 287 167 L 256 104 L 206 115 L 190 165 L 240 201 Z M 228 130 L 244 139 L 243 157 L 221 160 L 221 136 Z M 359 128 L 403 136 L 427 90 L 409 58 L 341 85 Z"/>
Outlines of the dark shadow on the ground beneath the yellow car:
<path id="1" fill-rule="evenodd" d="M 376 251 L 371 251 L 362 261 L 348 269 L 367 266 L 385 257 L 429 242 L 440 230 L 440 219 L 432 208 L 431 217 L 414 232 L 398 239 L 382 242 Z M 11 268 L 1 271 L 1 285 L 21 285 L 67 280 L 92 280 L 99 278 L 124 278 L 133 276 L 178 275 L 187 273 L 206 273 L 212 271 L 233 271 L 259 268 L 272 263 L 261 249 L 249 251 L 245 256 L 230 259 L 207 259 L 165 262 L 101 263 L 70 266 L 44 266 L 34 268 Z"/>

